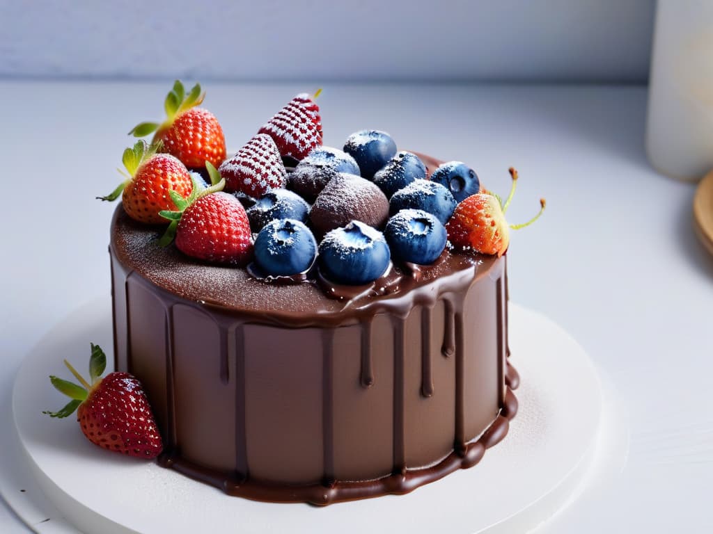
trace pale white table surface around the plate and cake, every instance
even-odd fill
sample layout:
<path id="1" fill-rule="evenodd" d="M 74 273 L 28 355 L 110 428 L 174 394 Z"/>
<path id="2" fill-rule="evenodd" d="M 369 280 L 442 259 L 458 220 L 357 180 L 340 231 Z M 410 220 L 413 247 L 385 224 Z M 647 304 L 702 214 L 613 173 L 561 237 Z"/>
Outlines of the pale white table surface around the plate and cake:
<path id="1" fill-rule="evenodd" d="M 160 118 L 169 87 L 0 82 L 0 409 L 39 337 L 80 303 L 108 298 L 113 206 L 94 197 L 118 184 L 125 132 Z M 210 84 L 205 107 L 235 148 L 317 87 Z M 713 527 L 713 259 L 692 234 L 694 186 L 647 163 L 646 98 L 632 86 L 383 84 L 329 84 L 319 97 L 327 145 L 386 130 L 400 147 L 463 159 L 505 194 L 514 165 L 511 223 L 547 198 L 543 218 L 512 235 L 511 298 L 585 347 L 615 385 L 631 436 L 620 476 L 546 533 Z M 6 506 L 0 530 L 28 532 Z"/>

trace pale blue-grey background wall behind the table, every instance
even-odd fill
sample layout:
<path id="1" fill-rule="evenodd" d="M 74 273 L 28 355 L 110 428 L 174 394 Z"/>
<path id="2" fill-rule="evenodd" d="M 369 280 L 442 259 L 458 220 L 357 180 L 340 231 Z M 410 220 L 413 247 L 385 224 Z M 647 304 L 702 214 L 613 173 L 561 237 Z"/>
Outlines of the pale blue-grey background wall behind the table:
<path id="1" fill-rule="evenodd" d="M 0 0 L 0 78 L 645 83 L 653 11 L 654 0 Z"/>

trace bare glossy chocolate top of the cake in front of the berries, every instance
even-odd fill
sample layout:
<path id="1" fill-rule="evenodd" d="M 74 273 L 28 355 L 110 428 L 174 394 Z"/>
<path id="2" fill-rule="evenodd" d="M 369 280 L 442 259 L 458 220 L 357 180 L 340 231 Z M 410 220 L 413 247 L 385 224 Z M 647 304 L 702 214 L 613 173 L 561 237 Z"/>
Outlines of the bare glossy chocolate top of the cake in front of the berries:
<path id="1" fill-rule="evenodd" d="M 175 247 L 161 247 L 158 240 L 162 233 L 162 228 L 140 224 L 117 206 L 111 225 L 111 248 L 120 266 L 178 298 L 227 313 L 290 323 L 297 318 L 307 323 L 321 322 L 320 318 L 344 322 L 359 313 L 374 313 L 384 305 L 398 305 L 404 297 L 413 300 L 414 291 L 435 293 L 435 297 L 456 286 L 467 287 L 491 271 L 500 276 L 501 269 L 495 266 L 504 259 L 446 250 L 432 266 L 413 266 L 411 270 L 392 265 L 389 273 L 375 283 L 357 287 L 330 284 L 326 288 L 318 275 L 302 283 L 266 281 L 255 278 L 245 268 L 190 258 Z"/>

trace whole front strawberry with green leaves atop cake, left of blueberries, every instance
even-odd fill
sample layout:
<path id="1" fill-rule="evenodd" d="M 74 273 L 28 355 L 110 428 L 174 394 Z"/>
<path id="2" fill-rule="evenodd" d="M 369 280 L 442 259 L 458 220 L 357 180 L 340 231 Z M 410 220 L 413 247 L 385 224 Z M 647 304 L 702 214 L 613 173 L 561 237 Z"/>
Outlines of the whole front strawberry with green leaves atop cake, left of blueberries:
<path id="1" fill-rule="evenodd" d="M 212 186 L 194 187 L 188 199 L 171 193 L 178 211 L 161 211 L 171 221 L 160 239 L 168 246 L 175 236 L 176 248 L 193 258 L 245 266 L 252 258 L 252 234 L 245 208 L 232 194 L 222 192 L 225 178 L 205 162 Z"/>

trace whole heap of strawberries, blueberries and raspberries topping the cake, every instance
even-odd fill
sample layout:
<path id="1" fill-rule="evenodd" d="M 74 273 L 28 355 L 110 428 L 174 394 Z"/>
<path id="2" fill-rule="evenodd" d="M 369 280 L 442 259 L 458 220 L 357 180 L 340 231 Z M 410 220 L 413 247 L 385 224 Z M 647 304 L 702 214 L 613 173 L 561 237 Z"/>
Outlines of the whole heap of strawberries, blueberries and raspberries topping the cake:
<path id="1" fill-rule="evenodd" d="M 446 249 L 501 256 L 509 230 L 532 222 L 505 219 L 514 169 L 503 204 L 463 162 L 429 176 L 418 155 L 399 152 L 381 130 L 355 132 L 343 150 L 323 146 L 318 94 L 297 95 L 226 159 L 220 124 L 198 107 L 200 85 L 186 94 L 177 81 L 165 122 L 130 132 L 154 133 L 152 144 L 125 150 L 125 182 L 101 198 L 122 194 L 130 217 L 168 225 L 162 246 L 175 241 L 212 263 L 252 262 L 252 276 L 265 281 L 299 275 L 359 286 L 392 264 L 430 265 Z"/>

